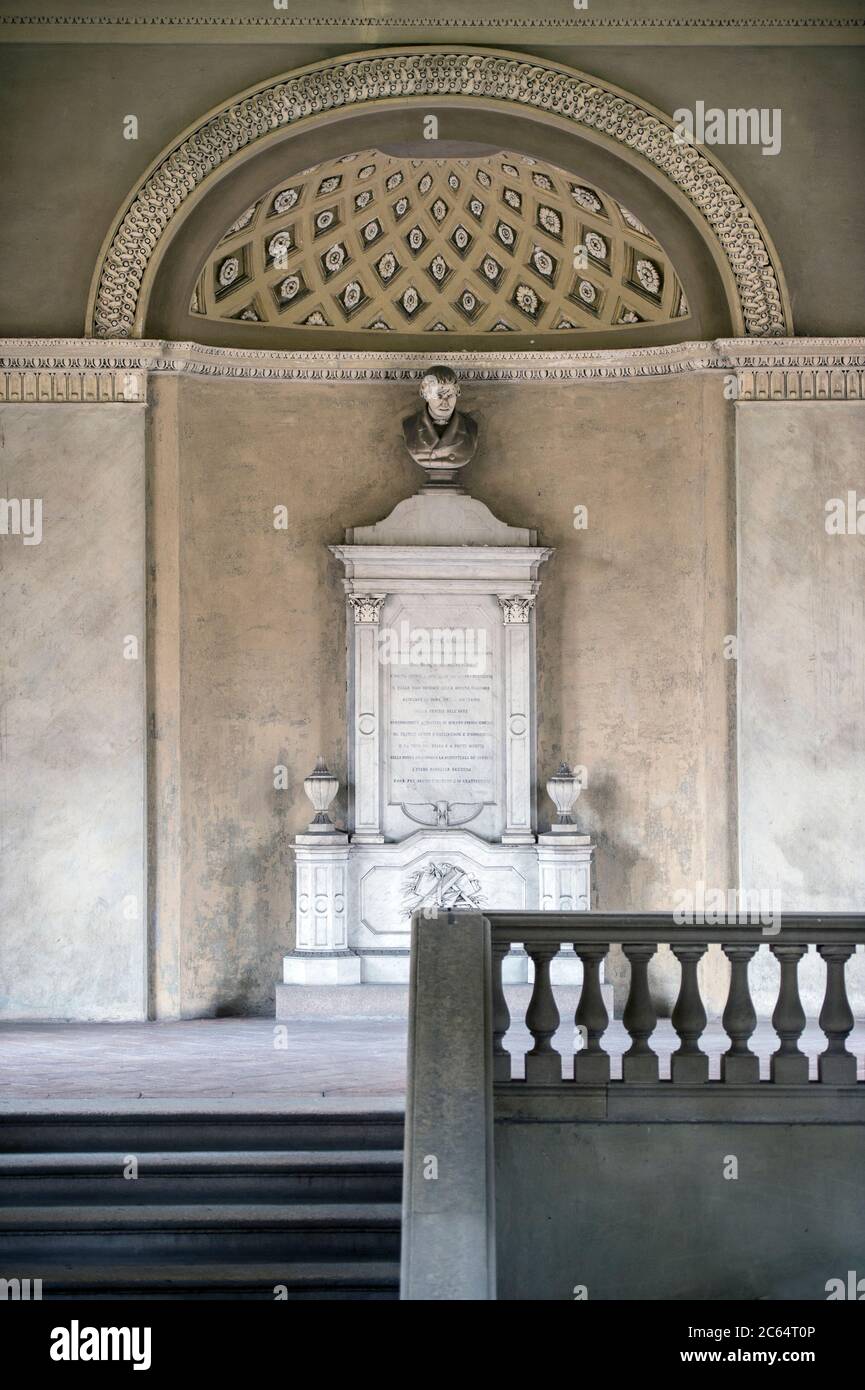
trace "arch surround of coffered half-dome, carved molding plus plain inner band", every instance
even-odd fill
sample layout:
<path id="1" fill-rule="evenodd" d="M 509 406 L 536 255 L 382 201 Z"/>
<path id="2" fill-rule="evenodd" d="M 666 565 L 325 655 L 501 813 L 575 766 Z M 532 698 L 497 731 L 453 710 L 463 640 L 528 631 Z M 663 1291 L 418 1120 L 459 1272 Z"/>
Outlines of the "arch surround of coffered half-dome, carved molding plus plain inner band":
<path id="1" fill-rule="evenodd" d="M 428 118 L 438 139 L 424 139 Z M 470 138 L 470 139 L 469 139 Z M 88 332 L 218 346 L 334 346 L 316 328 L 191 313 L 196 279 L 225 228 L 280 181 L 378 149 L 405 158 L 508 150 L 605 190 L 651 229 L 681 281 L 686 317 L 583 327 L 542 342 L 501 334 L 484 346 L 633 348 L 718 336 L 789 336 L 777 254 L 757 211 L 715 156 L 677 139 L 669 117 L 559 64 L 485 49 L 375 50 L 331 58 L 234 97 L 181 135 L 118 211 L 93 277 Z M 567 249 L 566 249 L 567 250 Z M 470 349 L 407 325 L 389 338 L 343 325 L 339 348 Z"/>

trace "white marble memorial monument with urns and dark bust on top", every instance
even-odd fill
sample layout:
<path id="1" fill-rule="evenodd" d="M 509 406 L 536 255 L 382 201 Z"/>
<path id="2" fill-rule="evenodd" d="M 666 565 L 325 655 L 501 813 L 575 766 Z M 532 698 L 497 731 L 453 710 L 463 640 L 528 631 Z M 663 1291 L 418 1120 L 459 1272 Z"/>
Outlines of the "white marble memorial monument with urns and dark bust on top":
<path id="1" fill-rule="evenodd" d="M 403 439 L 423 486 L 331 546 L 348 607 L 349 828 L 330 823 L 337 780 L 320 759 L 305 783 L 316 817 L 292 847 L 296 944 L 277 1016 L 299 988 L 405 984 L 413 912 L 592 905 L 594 847 L 565 766 L 548 783 L 559 816 L 537 833 L 534 620 L 552 552 L 460 485 L 477 424 L 456 409 L 453 373 L 431 368 L 420 395 Z M 562 954 L 553 979 L 579 970 Z M 524 952 L 505 979 L 528 979 Z"/>

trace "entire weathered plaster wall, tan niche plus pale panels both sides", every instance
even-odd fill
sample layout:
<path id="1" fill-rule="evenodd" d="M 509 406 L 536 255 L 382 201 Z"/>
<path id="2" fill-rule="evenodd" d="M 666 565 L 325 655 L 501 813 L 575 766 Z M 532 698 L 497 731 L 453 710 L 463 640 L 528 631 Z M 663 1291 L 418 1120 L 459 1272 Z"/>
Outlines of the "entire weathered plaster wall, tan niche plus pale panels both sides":
<path id="1" fill-rule="evenodd" d="M 143 638 L 145 573 L 153 1008 L 270 1011 L 302 780 L 317 752 L 345 778 L 345 612 L 327 545 L 414 491 L 399 439 L 414 399 L 159 378 L 147 567 L 145 407 L 0 413 L 4 495 L 45 507 L 39 546 L 0 541 L 7 1016 L 145 1011 L 145 663 L 122 656 L 125 637 Z M 471 491 L 556 550 L 538 605 L 538 799 L 544 823 L 551 769 L 585 764 L 599 905 L 669 909 L 680 888 L 737 884 L 725 637 L 738 631 L 743 884 L 777 887 L 787 908 L 861 908 L 861 537 L 823 523 L 829 498 L 864 486 L 865 406 L 736 407 L 737 624 L 734 410 L 718 377 L 476 384 L 464 404 L 483 441 Z M 765 952 L 752 974 L 770 1008 Z M 718 1006 L 718 956 L 706 976 Z M 802 977 L 819 1006 L 822 963 Z M 676 981 L 658 962 L 663 1002 Z"/>

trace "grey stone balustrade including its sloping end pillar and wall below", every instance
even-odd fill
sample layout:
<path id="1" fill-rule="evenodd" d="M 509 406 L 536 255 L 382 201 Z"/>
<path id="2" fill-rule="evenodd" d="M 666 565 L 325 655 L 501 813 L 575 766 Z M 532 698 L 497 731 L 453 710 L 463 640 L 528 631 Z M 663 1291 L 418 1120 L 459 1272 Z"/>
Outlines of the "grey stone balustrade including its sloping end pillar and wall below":
<path id="1" fill-rule="evenodd" d="M 502 984 L 502 963 L 515 942 L 523 942 L 534 966 L 524 1020 L 512 1020 Z M 569 942 L 583 963 L 583 983 L 573 1006 L 573 1036 L 580 1040 L 573 1054 L 573 1079 L 572 1058 L 563 1058 L 553 1045 L 567 1037 L 569 1030 L 560 1027 L 563 1020 L 551 984 L 552 962 Z M 412 922 L 402 1298 L 498 1297 L 496 1245 L 502 1245 L 509 1259 L 506 1297 L 535 1297 L 534 1290 L 544 1286 L 545 1279 L 555 1284 L 555 1279 L 544 1273 L 545 1258 L 531 1255 L 538 1229 L 572 1230 L 573 1248 L 590 1258 L 595 1226 L 590 1222 L 583 1229 L 574 1216 L 574 1175 L 583 1173 L 585 1182 L 615 1186 L 613 1177 L 605 1177 L 604 1165 L 592 1166 L 592 1155 L 602 1143 L 611 1159 L 609 1172 L 617 1173 L 627 1190 L 637 1176 L 633 1147 L 629 1147 L 633 1145 L 629 1134 L 634 1130 L 649 1165 L 649 1177 L 644 1173 L 641 1182 L 655 1182 L 652 1191 L 659 1202 L 668 1200 L 670 1183 L 683 1183 L 684 1190 L 691 1191 L 694 1173 L 705 1173 L 706 1162 L 716 1161 L 719 1134 L 727 1145 L 720 1152 L 736 1154 L 736 1145 L 745 1143 L 734 1138 L 736 1127 L 752 1134 L 755 1125 L 765 1126 L 763 1144 L 758 1148 L 769 1176 L 766 1186 L 748 1197 L 752 1219 L 761 1219 L 762 1204 L 768 1202 L 773 1212 L 769 1226 L 776 1222 L 779 1230 L 786 1229 L 784 1187 L 777 1182 L 782 1169 L 784 1182 L 811 1191 L 818 1207 L 830 1201 L 834 1187 L 825 1152 L 843 1143 L 847 1145 L 843 1162 L 855 1166 L 864 1143 L 865 1083 L 857 1083 L 857 1058 L 848 1048 L 855 1020 L 846 984 L 847 963 L 864 942 L 865 915 L 852 913 L 789 913 L 780 926 L 773 923 L 772 934 L 765 927 L 733 920 L 680 926 L 672 913 L 445 912 L 431 917 L 416 913 Z M 669 1080 L 661 1079 L 659 1056 L 652 1047 L 658 1011 L 649 965 L 662 945 L 672 949 L 681 967 L 670 1020 L 679 1047 L 670 1058 Z M 706 1008 L 700 963 L 711 945 L 720 947 L 730 963 L 720 1019 L 729 1047 L 720 1056 L 719 1080 L 709 1080 L 709 1056 L 701 1047 Z M 772 1015 L 779 1045 L 765 1081 L 751 1047 L 757 1011 L 748 981 L 748 966 L 761 945 L 769 948 L 780 967 Z M 612 947 L 620 947 L 630 965 L 627 1002 L 622 1023 L 615 1024 L 619 1041 L 622 1027 L 630 1040 L 622 1056 L 620 1080 L 611 1077 L 611 1052 L 604 1045 L 611 1019 L 601 988 L 601 965 Z M 809 948 L 815 948 L 826 965 L 819 1012 L 825 1047 L 816 1059 L 816 1081 L 809 1080 L 809 1058 L 800 1045 L 807 1017 L 798 967 Z M 524 1076 L 515 1076 L 519 1065 L 513 1066 L 510 1049 L 519 1052 L 523 1022 L 531 1045 L 524 1055 Z M 506 1036 L 509 1048 L 505 1047 Z M 669 1151 L 663 1147 L 668 1129 L 659 1123 L 663 1120 L 677 1125 L 676 1145 Z M 608 1123 L 609 1140 L 601 1141 L 598 1126 Z M 538 1140 L 538 1130 L 542 1130 L 542 1140 Z M 577 1150 L 569 1145 L 583 1133 L 594 1138 L 579 1150 L 580 1163 L 574 1168 Z M 706 1158 L 709 1151 L 711 1159 Z M 555 1154 L 558 1159 L 551 1156 Z M 752 1158 L 755 1166 L 750 1172 L 757 1172 L 759 1154 Z M 857 1209 L 851 1202 L 850 1219 L 839 1227 L 833 1247 L 833 1258 L 841 1265 L 852 1258 L 844 1232 L 850 1229 L 854 1244 L 859 1238 Z M 701 1213 L 697 1193 L 690 1219 L 701 1219 Z M 620 1236 L 617 1255 L 615 1259 L 611 1255 L 619 1272 L 633 1264 L 629 1241 L 634 1238 L 627 1230 Z M 655 1240 L 656 1232 L 648 1232 L 645 1238 L 649 1236 Z M 802 1268 L 827 1258 L 815 1238 L 808 1223 L 797 1227 L 794 1258 Z M 718 1240 L 718 1232 L 706 1229 L 702 1244 L 697 1241 L 694 1279 L 702 1279 L 715 1258 L 712 1250 Z M 772 1245 L 772 1287 L 782 1287 L 791 1248 L 780 1238 Z M 591 1254 L 592 1259 L 595 1257 L 601 1280 L 605 1265 L 597 1250 Z M 552 1254 L 551 1259 L 552 1269 Z M 733 1265 L 726 1269 L 720 1262 L 713 1277 L 720 1290 L 738 1287 L 740 1275 Z M 560 1287 L 566 1287 L 566 1280 Z"/>

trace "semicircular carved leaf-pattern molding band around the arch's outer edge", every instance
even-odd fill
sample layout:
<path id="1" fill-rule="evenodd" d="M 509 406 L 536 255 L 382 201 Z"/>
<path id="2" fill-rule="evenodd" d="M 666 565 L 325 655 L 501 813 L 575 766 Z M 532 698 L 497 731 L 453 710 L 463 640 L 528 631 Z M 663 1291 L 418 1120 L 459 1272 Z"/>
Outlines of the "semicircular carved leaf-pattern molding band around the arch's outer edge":
<path id="1" fill-rule="evenodd" d="M 346 54 L 264 82 L 211 111 L 146 171 L 103 245 L 86 332 L 140 336 L 159 261 L 210 182 L 264 140 L 364 106 L 471 100 L 534 111 L 601 140 L 668 185 L 720 268 L 736 332 L 793 334 L 777 253 L 755 208 L 723 165 L 677 138 L 670 117 L 560 64 L 491 49 L 405 47 Z"/>

